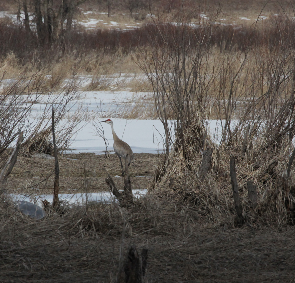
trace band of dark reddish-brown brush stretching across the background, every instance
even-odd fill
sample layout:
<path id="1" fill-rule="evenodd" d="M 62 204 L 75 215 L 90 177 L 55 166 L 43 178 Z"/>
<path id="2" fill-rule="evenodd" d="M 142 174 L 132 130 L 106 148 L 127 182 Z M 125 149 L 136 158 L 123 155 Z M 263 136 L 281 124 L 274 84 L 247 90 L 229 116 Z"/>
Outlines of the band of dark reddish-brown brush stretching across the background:
<path id="1" fill-rule="evenodd" d="M 209 32 L 208 32 L 208 29 Z M 185 24 L 159 23 L 146 24 L 141 28 L 130 30 L 71 30 L 54 42 L 38 39 L 37 33 L 27 32 L 24 27 L 1 23 L 0 53 L 1 56 L 13 52 L 23 62 L 36 57 L 55 52 L 77 56 L 90 50 L 100 50 L 106 53 L 122 50 L 123 54 L 139 47 L 158 46 L 173 48 L 183 44 L 186 48 L 194 48 L 199 44 L 215 46 L 220 51 L 240 50 L 266 46 L 271 49 L 294 48 L 294 20 L 276 18 L 263 28 L 240 28 L 234 25 L 215 25 L 206 27 L 189 26 Z M 179 42 L 178 42 L 179 41 Z M 37 56 L 38 57 L 38 56 Z"/>

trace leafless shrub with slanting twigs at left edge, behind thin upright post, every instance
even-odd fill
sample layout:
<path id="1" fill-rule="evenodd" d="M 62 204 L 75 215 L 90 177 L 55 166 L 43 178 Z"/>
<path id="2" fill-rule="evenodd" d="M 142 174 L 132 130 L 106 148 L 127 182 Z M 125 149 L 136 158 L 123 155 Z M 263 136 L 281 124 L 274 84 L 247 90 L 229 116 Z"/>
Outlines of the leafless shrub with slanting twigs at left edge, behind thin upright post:
<path id="1" fill-rule="evenodd" d="M 70 80 L 61 82 L 62 77 L 48 79 L 44 69 L 32 76 L 24 73 L 17 80 L 3 84 L 1 90 L 1 153 L 24 132 L 26 141 L 22 151 L 51 151 L 50 107 L 56 104 L 56 140 L 63 151 L 71 143 L 71 136 L 83 120 L 82 105 L 77 104 L 78 76 L 73 73 Z M 1 83 L 6 82 L 5 76 Z M 58 85 L 62 85 L 57 92 Z M 68 115 L 68 117 L 67 117 Z M 5 159 L 4 159 L 5 160 Z"/>

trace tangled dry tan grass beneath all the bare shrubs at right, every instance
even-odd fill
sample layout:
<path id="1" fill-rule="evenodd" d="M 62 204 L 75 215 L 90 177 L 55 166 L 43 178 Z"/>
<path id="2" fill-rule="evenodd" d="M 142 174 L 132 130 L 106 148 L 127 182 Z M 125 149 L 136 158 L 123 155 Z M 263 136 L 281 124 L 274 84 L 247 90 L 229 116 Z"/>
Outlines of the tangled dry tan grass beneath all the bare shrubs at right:
<path id="1" fill-rule="evenodd" d="M 196 128 L 203 129 L 201 134 L 195 135 Z M 286 136 L 275 147 L 266 148 L 266 133 L 261 131 L 258 137 L 253 138 L 247 153 L 243 153 L 241 146 L 245 140 L 244 135 L 230 146 L 224 143 L 217 146 L 206 137 L 206 149 L 208 151 L 212 148 L 213 154 L 208 166 L 209 171 L 203 176 L 201 168 L 204 163 L 204 129 L 204 126 L 197 124 L 197 119 L 194 120 L 184 136 L 187 141 L 186 156 L 176 148 L 171 151 L 166 161 L 163 159 L 158 165 L 151 183 L 155 193 L 161 195 L 164 191 L 169 198 L 176 201 L 180 211 L 187 205 L 194 211 L 193 215 L 196 214 L 203 221 L 210 219 L 215 224 L 226 223 L 235 227 L 236 212 L 229 168 L 230 157 L 234 155 L 243 216 L 248 224 L 294 225 L 294 164 L 290 163 L 294 145 L 290 143 L 289 137 Z M 249 181 L 253 182 L 257 190 L 257 206 L 253 206 L 249 199 Z"/>

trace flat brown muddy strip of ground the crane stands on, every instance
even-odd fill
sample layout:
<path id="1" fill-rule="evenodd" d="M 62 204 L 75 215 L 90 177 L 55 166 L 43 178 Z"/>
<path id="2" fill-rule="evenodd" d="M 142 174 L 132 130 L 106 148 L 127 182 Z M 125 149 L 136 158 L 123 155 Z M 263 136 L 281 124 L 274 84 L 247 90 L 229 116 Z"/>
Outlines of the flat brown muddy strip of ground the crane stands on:
<path id="1" fill-rule="evenodd" d="M 157 154 L 135 153 L 135 160 L 129 166 L 132 189 L 147 188 L 157 161 Z M 53 193 L 54 162 L 54 159 L 19 156 L 8 178 L 9 192 Z M 114 177 L 118 188 L 123 189 L 124 179 L 119 178 L 122 175 L 121 164 L 116 154 L 109 154 L 107 158 L 94 153 L 65 154 L 58 156 L 58 163 L 60 193 L 85 192 L 84 168 L 89 193 L 109 190 L 104 180 L 106 171 Z"/>

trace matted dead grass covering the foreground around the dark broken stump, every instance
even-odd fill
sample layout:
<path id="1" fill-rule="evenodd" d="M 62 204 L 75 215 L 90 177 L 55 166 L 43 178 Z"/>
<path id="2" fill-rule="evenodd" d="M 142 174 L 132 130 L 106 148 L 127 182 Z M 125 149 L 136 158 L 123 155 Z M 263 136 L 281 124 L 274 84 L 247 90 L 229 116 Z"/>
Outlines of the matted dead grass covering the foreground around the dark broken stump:
<path id="1" fill-rule="evenodd" d="M 1 282 L 116 282 L 120 249 L 131 244 L 148 248 L 145 282 L 294 281 L 293 227 L 228 229 L 165 200 L 69 207 L 35 221 L 2 197 Z"/>

